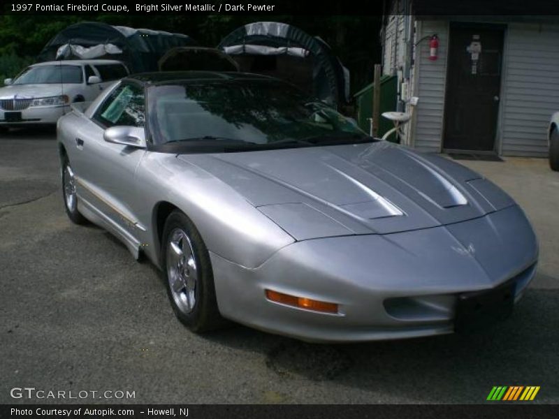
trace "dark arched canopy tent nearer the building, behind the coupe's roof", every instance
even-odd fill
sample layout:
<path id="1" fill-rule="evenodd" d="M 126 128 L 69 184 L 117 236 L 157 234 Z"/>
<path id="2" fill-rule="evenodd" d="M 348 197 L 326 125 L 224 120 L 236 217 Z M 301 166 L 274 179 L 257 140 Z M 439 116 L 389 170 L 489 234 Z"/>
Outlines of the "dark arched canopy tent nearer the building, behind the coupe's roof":
<path id="1" fill-rule="evenodd" d="M 333 105 L 349 101 L 349 71 L 331 47 L 289 24 L 246 24 L 218 48 L 238 62 L 240 71 L 282 78 Z"/>

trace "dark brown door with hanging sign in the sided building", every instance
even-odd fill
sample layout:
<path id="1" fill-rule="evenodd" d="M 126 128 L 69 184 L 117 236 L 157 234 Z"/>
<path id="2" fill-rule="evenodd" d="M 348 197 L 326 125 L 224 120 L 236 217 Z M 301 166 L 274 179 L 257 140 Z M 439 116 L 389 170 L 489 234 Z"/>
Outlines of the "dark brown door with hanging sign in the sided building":
<path id="1" fill-rule="evenodd" d="M 504 29 L 451 23 L 444 149 L 493 151 Z"/>

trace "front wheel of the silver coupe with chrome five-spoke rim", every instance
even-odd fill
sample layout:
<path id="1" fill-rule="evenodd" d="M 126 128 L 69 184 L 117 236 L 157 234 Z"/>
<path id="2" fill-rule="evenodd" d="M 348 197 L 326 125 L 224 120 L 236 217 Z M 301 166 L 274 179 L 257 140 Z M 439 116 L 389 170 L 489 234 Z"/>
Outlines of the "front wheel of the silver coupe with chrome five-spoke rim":
<path id="1" fill-rule="evenodd" d="M 175 211 L 168 216 L 161 261 L 175 316 L 197 333 L 222 325 L 224 320 L 217 308 L 210 254 L 194 223 L 182 212 Z"/>

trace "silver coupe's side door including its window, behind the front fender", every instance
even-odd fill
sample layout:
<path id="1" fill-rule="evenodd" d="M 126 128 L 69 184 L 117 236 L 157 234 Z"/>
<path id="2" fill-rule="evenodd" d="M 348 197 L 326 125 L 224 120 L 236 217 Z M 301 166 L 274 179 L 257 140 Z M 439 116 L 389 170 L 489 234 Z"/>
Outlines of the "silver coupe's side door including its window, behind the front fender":
<path id="1" fill-rule="evenodd" d="M 143 87 L 123 82 L 108 94 L 76 139 L 84 156 L 78 182 L 81 193 L 117 233 L 136 244 L 145 240 L 145 227 L 138 223 L 133 203 L 136 169 L 146 150 L 106 142 L 103 133 L 110 126 L 143 127 L 144 121 Z"/>

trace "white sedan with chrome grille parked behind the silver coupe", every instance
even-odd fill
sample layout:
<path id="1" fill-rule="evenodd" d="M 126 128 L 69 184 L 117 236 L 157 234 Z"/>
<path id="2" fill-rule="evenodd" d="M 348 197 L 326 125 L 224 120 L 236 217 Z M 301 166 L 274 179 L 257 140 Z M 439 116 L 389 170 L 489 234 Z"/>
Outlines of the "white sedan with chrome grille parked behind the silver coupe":
<path id="1" fill-rule="evenodd" d="M 56 124 L 75 102 L 93 101 L 109 84 L 129 74 L 106 59 L 48 61 L 24 69 L 0 88 L 0 130 Z"/>

